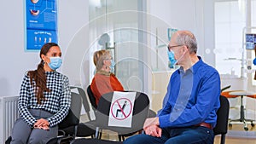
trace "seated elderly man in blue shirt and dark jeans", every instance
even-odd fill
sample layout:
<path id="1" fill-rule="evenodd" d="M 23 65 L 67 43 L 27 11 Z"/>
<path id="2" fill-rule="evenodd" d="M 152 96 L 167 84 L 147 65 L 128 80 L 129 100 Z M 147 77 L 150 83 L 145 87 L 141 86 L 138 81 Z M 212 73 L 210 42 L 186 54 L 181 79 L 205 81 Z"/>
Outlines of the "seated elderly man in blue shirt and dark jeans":
<path id="1" fill-rule="evenodd" d="M 147 118 L 145 134 L 134 135 L 124 144 L 212 144 L 219 107 L 218 72 L 196 55 L 193 33 L 177 31 L 168 50 L 180 66 L 167 87 L 162 109 L 157 117 Z"/>

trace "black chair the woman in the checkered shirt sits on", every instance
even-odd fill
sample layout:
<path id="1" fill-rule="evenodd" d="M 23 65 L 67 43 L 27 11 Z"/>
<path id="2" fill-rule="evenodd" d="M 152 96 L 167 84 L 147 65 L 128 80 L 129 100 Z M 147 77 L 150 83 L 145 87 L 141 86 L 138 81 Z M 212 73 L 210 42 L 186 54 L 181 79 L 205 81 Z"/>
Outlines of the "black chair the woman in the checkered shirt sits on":
<path id="1" fill-rule="evenodd" d="M 77 135 L 78 125 L 79 125 L 79 118 L 81 113 L 82 107 L 82 98 L 79 94 L 71 92 L 71 107 L 67 114 L 67 117 L 63 119 L 63 121 L 58 124 L 59 126 L 59 135 L 58 137 L 52 138 L 47 142 L 47 144 L 55 144 L 55 143 L 63 143 L 67 141 L 73 140 Z M 70 135 L 66 135 L 64 129 L 72 128 L 72 133 Z"/>

